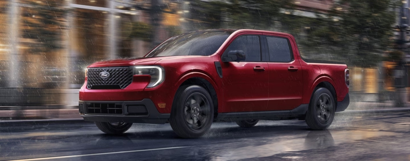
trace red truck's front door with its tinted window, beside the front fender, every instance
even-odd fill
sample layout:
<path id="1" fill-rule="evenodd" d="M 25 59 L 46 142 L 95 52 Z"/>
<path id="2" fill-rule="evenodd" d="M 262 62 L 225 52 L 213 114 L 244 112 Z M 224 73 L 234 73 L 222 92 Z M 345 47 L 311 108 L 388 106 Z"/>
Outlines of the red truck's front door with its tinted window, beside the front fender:
<path id="1" fill-rule="evenodd" d="M 259 35 L 241 35 L 223 52 L 241 51 L 245 60 L 221 62 L 223 112 L 266 111 L 268 104 L 268 63 L 261 52 Z"/>

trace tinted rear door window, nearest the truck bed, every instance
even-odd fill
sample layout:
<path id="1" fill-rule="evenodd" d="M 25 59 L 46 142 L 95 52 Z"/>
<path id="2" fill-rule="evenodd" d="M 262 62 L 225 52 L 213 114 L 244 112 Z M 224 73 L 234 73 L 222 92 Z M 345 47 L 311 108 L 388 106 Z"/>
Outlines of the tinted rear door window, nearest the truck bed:
<path id="1" fill-rule="evenodd" d="M 268 41 L 269 61 L 290 62 L 293 60 L 289 41 L 286 38 L 266 36 Z"/>

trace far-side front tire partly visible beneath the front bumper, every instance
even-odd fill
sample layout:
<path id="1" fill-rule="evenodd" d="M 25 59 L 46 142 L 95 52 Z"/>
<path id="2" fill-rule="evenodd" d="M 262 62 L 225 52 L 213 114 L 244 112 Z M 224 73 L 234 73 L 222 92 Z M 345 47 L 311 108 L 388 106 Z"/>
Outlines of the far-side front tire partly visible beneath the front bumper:
<path id="1" fill-rule="evenodd" d="M 95 122 L 98 129 L 107 134 L 123 134 L 131 128 L 132 123 L 123 122 Z"/>

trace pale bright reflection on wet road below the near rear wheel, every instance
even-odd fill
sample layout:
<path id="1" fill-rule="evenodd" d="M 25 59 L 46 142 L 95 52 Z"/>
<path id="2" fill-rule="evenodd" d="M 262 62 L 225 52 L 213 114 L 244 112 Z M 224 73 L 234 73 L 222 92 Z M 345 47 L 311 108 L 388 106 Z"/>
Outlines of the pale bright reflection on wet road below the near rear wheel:
<path id="1" fill-rule="evenodd" d="M 394 132 L 383 131 L 348 130 L 329 132 L 328 130 L 313 130 L 307 133 L 305 137 L 289 140 L 285 138 L 282 141 L 271 141 L 271 143 L 264 145 L 250 145 L 239 148 L 229 148 L 226 152 L 220 152 L 219 154 L 221 154 L 221 156 L 216 156 L 214 159 L 216 161 L 224 161 L 266 157 L 284 152 L 296 152 L 308 149 L 322 149 L 346 142 L 354 142 L 368 138 L 395 135 L 397 134 Z"/>

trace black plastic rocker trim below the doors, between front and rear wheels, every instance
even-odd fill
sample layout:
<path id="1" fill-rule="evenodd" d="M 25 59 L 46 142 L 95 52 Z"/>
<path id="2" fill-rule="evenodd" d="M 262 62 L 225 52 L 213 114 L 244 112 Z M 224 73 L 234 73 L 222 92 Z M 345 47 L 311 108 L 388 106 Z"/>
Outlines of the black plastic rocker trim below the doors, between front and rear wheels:
<path id="1" fill-rule="evenodd" d="M 255 112 L 231 112 L 219 113 L 216 121 L 240 121 L 240 120 L 278 120 L 285 117 L 299 117 L 306 114 L 309 104 L 301 104 L 292 110 L 281 111 L 255 111 Z"/>

